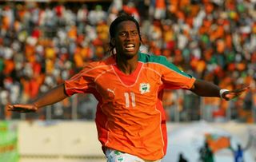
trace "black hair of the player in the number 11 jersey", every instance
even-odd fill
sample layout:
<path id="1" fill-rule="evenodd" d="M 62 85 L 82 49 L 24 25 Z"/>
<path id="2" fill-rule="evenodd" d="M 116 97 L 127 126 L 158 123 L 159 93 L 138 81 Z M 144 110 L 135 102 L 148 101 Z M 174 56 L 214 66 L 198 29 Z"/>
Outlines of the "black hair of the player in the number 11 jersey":
<path id="1" fill-rule="evenodd" d="M 140 26 L 139 26 L 137 20 L 134 18 L 134 16 L 131 16 L 130 14 L 126 14 L 125 12 L 120 13 L 118 15 L 118 18 L 114 19 L 114 21 L 110 24 L 110 39 L 114 38 L 117 28 L 118 28 L 118 25 L 121 22 L 125 22 L 125 21 L 134 22 L 134 24 L 136 25 L 137 30 L 138 30 L 139 38 L 142 41 L 141 33 L 140 33 L 140 29 L 139 29 Z M 110 53 L 113 52 L 114 47 L 115 46 L 110 41 Z"/>

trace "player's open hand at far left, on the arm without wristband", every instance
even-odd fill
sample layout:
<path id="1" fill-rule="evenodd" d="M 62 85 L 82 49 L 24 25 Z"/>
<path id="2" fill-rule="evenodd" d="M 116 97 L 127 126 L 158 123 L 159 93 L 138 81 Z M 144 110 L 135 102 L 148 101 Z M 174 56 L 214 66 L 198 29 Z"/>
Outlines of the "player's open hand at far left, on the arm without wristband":
<path id="1" fill-rule="evenodd" d="M 8 111 L 19 112 L 19 113 L 34 113 L 38 110 L 35 105 L 8 105 Z"/>

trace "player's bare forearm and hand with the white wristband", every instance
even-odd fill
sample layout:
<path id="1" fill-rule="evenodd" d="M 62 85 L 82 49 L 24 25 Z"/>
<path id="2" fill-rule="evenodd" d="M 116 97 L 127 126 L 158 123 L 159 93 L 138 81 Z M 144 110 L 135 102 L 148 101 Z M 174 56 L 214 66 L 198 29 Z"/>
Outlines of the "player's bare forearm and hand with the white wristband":
<path id="1" fill-rule="evenodd" d="M 240 96 L 247 89 L 249 89 L 248 85 L 235 90 L 220 89 L 217 85 L 214 85 L 209 81 L 196 80 L 194 86 L 190 90 L 201 97 L 222 97 L 226 101 L 230 101 L 231 99 Z"/>

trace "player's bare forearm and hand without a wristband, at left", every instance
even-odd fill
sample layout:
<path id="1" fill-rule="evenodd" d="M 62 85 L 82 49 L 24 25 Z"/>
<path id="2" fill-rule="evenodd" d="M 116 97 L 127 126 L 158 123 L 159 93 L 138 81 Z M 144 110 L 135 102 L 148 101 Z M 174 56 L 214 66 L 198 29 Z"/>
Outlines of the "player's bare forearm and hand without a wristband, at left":
<path id="1" fill-rule="evenodd" d="M 65 86 L 62 84 L 44 93 L 30 104 L 8 105 L 8 110 L 20 113 L 36 112 L 39 108 L 62 101 L 66 97 Z"/>

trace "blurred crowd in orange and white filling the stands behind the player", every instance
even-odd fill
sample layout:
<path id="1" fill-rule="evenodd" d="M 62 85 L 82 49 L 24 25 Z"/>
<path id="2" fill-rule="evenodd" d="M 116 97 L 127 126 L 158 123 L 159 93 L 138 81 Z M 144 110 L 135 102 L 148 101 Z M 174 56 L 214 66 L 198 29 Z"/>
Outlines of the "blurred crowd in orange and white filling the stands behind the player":
<path id="1" fill-rule="evenodd" d="M 141 26 L 143 53 L 166 56 L 198 79 L 223 89 L 250 90 L 234 101 L 166 91 L 168 121 L 256 118 L 255 0 L 114 0 L 107 2 L 0 3 L 0 119 L 8 103 L 26 103 L 108 56 L 109 26 L 118 13 L 133 14 Z M 70 97 L 52 110 L 56 118 L 93 119 L 94 98 Z M 193 106 L 192 106 L 193 105 Z M 86 109 L 90 108 L 90 109 Z M 39 119 L 46 118 L 40 110 Z"/>

